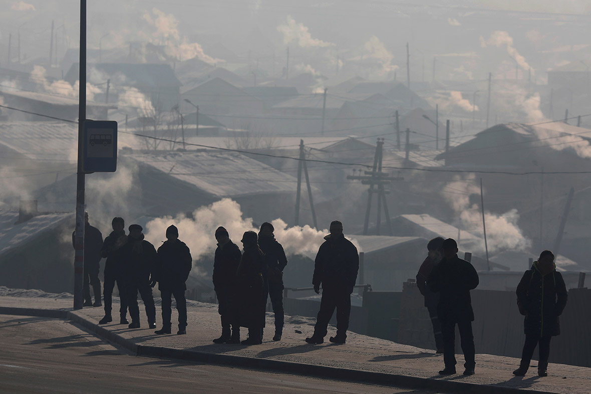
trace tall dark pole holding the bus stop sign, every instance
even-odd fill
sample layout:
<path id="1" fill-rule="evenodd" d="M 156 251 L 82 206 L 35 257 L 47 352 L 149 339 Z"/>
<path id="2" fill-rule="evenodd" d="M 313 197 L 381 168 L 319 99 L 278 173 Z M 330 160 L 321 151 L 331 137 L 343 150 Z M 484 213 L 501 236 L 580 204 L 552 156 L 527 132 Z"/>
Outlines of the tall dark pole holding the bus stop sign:
<path id="1" fill-rule="evenodd" d="M 53 37 L 53 22 L 51 22 Z M 50 56 L 51 59 L 51 56 Z M 86 0 L 80 0 L 80 75 L 78 104 L 78 171 L 76 175 L 76 230 L 74 233 L 74 310 L 82 309 L 84 277 L 85 172 L 84 123 L 86 121 Z"/>

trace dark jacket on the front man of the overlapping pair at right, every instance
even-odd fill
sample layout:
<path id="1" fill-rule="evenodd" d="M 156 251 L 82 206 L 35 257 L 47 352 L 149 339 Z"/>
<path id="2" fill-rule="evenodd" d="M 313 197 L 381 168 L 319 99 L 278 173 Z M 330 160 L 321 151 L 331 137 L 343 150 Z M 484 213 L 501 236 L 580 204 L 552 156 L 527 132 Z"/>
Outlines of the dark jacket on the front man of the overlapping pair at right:
<path id="1" fill-rule="evenodd" d="M 439 292 L 437 317 L 442 322 L 474 321 L 470 290 L 478 286 L 478 273 L 469 262 L 457 255 L 444 258 L 434 266 L 427 278 L 427 286 Z"/>

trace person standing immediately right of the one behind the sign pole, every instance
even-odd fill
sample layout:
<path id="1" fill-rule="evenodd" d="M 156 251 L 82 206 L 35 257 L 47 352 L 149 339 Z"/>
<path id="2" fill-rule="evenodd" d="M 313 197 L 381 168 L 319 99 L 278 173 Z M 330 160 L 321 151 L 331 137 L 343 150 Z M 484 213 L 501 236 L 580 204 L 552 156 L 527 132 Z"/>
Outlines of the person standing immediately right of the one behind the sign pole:
<path id="1" fill-rule="evenodd" d="M 103 317 L 99 324 L 111 323 L 113 318 L 111 316 L 111 309 L 113 303 L 113 288 L 115 282 L 117 283 L 117 290 L 119 291 L 119 324 L 129 324 L 127 321 L 127 297 L 125 294 L 125 281 L 123 264 L 121 261 L 121 247 L 127 242 L 125 235 L 125 221 L 122 217 L 114 217 L 111 222 L 113 231 L 105 238 L 103 248 L 100 250 L 100 256 L 106 258 L 105 262 L 105 278 L 103 285 L 103 299 L 105 300 L 105 317 Z"/>

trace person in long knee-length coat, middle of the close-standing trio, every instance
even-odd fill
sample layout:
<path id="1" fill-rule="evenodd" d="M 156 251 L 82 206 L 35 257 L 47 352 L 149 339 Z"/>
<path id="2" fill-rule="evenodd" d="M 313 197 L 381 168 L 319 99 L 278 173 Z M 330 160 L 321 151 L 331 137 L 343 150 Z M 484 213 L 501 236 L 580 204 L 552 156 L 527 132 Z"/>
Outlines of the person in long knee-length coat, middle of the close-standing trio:
<path id="1" fill-rule="evenodd" d="M 247 231 L 242 236 L 244 253 L 238 265 L 239 324 L 248 327 L 248 338 L 241 343 L 258 345 L 262 343 L 261 330 L 265 327 L 264 281 L 265 267 L 263 253 L 258 246 L 258 236 Z"/>

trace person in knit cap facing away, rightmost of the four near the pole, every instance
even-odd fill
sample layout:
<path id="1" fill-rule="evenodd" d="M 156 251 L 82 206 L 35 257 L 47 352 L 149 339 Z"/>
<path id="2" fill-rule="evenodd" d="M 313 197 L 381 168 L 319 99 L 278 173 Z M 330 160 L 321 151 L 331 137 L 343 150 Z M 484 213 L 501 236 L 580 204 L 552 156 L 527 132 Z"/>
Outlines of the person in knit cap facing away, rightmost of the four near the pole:
<path id="1" fill-rule="evenodd" d="M 171 333 L 172 297 L 177 304 L 177 335 L 186 334 L 187 327 L 187 290 L 185 282 L 189 278 L 193 259 L 189 247 L 178 239 L 178 229 L 171 225 L 166 229 L 166 241 L 158 248 L 155 267 L 155 280 L 162 298 L 162 329 L 154 331 L 158 335 Z"/>

